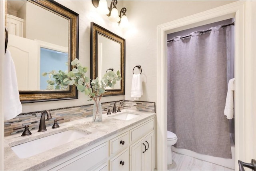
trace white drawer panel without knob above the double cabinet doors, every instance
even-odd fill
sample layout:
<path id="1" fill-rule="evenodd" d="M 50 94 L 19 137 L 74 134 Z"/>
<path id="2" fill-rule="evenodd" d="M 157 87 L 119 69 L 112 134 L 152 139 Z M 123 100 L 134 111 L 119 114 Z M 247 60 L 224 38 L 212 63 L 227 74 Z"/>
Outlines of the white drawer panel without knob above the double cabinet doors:
<path id="1" fill-rule="evenodd" d="M 135 141 L 153 130 L 154 130 L 154 121 L 152 119 L 152 120 L 148 121 L 147 123 L 139 125 L 138 127 L 135 127 L 134 129 L 130 130 L 131 131 L 131 141 Z"/>

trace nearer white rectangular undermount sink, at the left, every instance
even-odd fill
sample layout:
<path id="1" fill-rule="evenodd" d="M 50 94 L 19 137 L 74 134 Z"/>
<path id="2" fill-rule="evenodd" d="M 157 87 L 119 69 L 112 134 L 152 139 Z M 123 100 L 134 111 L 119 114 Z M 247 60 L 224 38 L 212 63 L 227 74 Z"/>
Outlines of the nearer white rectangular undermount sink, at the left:
<path id="1" fill-rule="evenodd" d="M 86 137 L 91 132 L 82 132 L 76 130 L 68 130 L 59 132 L 53 135 L 42 137 L 33 141 L 28 141 L 19 145 L 11 147 L 11 149 L 20 157 L 21 159 L 31 157 L 33 155 L 42 153 L 54 147 L 58 147 L 65 143 L 69 143 L 76 139 Z"/>

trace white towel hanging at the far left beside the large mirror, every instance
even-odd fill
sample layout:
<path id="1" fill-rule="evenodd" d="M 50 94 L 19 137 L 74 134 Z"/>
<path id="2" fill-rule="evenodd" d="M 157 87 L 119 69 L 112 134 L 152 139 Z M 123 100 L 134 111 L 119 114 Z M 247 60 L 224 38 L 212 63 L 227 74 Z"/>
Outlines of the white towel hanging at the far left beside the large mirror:
<path id="1" fill-rule="evenodd" d="M 16 70 L 12 56 L 8 50 L 4 57 L 4 101 L 3 101 L 3 111 L 4 120 L 10 120 L 16 117 L 22 112 L 22 105 L 20 103 L 20 94 L 18 90 L 18 83 L 16 77 Z"/>

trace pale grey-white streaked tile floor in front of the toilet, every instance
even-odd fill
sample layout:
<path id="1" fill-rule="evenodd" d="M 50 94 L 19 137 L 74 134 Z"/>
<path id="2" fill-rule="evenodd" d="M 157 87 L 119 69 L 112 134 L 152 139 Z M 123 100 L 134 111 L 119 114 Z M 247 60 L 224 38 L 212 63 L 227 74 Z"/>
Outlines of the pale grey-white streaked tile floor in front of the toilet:
<path id="1" fill-rule="evenodd" d="M 233 169 L 216 165 L 207 161 L 196 159 L 172 151 L 172 165 L 168 165 L 169 171 L 234 171 Z"/>

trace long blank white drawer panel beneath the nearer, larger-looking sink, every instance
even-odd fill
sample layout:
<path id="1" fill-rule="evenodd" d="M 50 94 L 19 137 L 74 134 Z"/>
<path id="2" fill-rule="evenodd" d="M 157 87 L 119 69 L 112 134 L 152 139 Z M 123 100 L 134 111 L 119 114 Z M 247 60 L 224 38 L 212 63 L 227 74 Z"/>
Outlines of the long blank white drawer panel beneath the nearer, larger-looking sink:
<path id="1" fill-rule="evenodd" d="M 108 157 L 108 145 L 104 143 L 95 147 L 71 160 L 66 163 L 63 163 L 63 166 L 60 170 L 77 170 L 77 171 L 84 171 L 90 170 L 92 167 L 97 165 L 99 162 L 106 160 Z"/>

